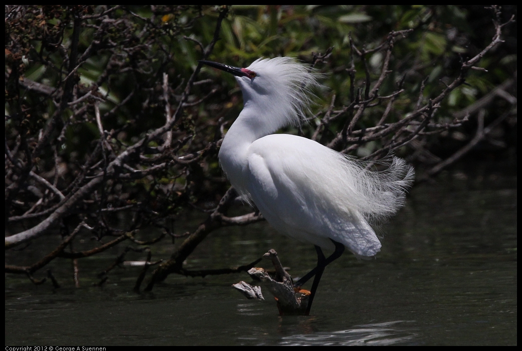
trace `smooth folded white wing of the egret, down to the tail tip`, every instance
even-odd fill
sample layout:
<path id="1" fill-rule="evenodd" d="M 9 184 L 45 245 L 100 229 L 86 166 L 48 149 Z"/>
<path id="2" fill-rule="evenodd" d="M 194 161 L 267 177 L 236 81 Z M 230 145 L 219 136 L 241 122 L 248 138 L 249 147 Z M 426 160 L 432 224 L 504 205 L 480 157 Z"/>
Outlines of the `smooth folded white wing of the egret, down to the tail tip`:
<path id="1" fill-rule="evenodd" d="M 331 150 L 309 139 L 289 135 L 258 139 L 249 149 L 248 192 L 282 234 L 325 248 L 333 247 L 331 238 L 356 255 L 374 256 L 381 243 L 372 227 L 357 209 L 340 203 L 335 185 L 328 184 L 333 180 L 328 173 L 338 171 L 338 160 L 331 158 Z"/>

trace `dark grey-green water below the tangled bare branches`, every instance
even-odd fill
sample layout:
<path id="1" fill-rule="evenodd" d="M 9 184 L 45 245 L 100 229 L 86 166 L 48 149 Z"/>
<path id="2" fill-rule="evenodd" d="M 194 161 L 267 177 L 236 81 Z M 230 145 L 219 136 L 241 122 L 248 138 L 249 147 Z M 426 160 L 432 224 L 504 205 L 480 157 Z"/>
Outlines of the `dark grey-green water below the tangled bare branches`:
<path id="1" fill-rule="evenodd" d="M 153 293 L 137 295 L 138 268 L 115 270 L 104 287 L 91 286 L 121 248 L 80 260 L 80 288 L 70 262 L 56 260 L 51 268 L 62 287 L 55 291 L 6 274 L 5 343 L 516 345 L 516 214 L 516 170 L 453 172 L 417 186 L 381 228 L 376 260 L 347 253 L 328 266 L 310 317 L 279 317 L 268 292 L 265 301 L 244 299 L 230 285 L 250 281 L 246 274 L 172 275 Z M 186 267 L 244 264 L 270 248 L 294 276 L 315 264 L 312 246 L 260 223 L 212 233 Z M 171 249 L 165 241 L 153 259 L 167 258 Z M 16 261 L 14 255 L 6 252 L 6 261 Z"/>

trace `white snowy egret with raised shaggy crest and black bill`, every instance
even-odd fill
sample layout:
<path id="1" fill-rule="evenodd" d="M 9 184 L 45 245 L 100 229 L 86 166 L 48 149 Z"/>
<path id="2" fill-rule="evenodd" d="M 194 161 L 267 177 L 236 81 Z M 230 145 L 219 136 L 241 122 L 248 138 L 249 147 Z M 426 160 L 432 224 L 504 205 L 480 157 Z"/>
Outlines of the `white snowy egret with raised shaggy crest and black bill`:
<path id="1" fill-rule="evenodd" d="M 347 155 L 310 139 L 272 134 L 298 124 L 309 110 L 317 75 L 290 57 L 257 59 L 247 68 L 202 60 L 235 76 L 243 92 L 243 111 L 224 137 L 219 161 L 239 194 L 252 201 L 278 232 L 313 244 L 317 267 L 315 291 L 327 264 L 345 247 L 372 257 L 381 243 L 369 222 L 395 213 L 413 181 L 413 168 L 393 158 L 384 172 L 372 172 Z M 333 249 L 325 258 L 322 248 Z"/>

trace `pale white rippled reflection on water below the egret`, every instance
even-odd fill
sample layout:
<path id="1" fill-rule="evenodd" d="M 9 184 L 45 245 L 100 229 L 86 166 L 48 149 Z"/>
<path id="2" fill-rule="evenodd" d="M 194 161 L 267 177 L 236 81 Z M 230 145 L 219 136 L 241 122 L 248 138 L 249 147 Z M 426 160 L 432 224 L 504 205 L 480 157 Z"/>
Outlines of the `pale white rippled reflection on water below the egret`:
<path id="1" fill-rule="evenodd" d="M 280 345 L 288 346 L 350 346 L 395 345 L 412 343 L 417 333 L 408 323 L 395 321 L 355 325 L 352 329 L 335 332 L 291 335 L 281 338 Z"/>

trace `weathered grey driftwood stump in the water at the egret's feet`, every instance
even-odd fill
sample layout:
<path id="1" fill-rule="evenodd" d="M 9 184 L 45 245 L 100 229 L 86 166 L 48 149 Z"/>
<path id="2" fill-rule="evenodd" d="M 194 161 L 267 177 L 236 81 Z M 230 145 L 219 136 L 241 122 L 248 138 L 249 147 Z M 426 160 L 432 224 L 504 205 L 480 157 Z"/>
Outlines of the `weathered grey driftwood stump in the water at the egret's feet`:
<path id="1" fill-rule="evenodd" d="M 275 279 L 272 279 L 263 268 L 252 268 L 248 271 L 248 274 L 254 279 L 261 281 L 261 285 L 274 295 L 281 316 L 289 314 L 304 315 L 310 292 L 307 290 L 295 291 L 292 277 L 283 269 L 277 257 L 277 252 L 274 249 L 270 249 L 263 257 L 269 259 L 272 261 L 272 264 L 274 264 L 274 268 L 276 269 Z M 261 289 L 258 286 L 251 286 L 245 282 L 240 282 L 232 286 L 238 289 L 247 298 L 263 299 Z M 256 288 L 259 290 L 259 293 L 256 292 Z M 260 295 L 261 298 L 258 298 L 258 295 Z"/>

